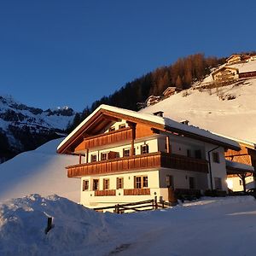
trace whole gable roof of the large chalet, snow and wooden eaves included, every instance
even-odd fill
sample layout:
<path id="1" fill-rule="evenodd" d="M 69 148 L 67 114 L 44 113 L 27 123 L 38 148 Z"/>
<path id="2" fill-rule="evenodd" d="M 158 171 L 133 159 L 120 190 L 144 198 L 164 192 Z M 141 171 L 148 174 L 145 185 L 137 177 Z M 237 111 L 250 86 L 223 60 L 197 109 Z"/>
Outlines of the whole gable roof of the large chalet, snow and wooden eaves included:
<path id="1" fill-rule="evenodd" d="M 151 128 L 159 131 L 175 132 L 179 135 L 192 137 L 224 148 L 234 150 L 241 149 L 238 143 L 230 139 L 219 137 L 212 134 L 210 131 L 205 131 L 192 125 L 183 125 L 172 119 L 155 116 L 153 114 L 137 113 L 124 108 L 101 105 L 60 143 L 57 148 L 57 153 L 72 153 L 73 148 L 82 142 L 84 136 L 93 136 L 106 125 L 111 125 L 111 123 L 121 119 L 125 119 L 127 122 L 131 123 L 149 125 Z"/>

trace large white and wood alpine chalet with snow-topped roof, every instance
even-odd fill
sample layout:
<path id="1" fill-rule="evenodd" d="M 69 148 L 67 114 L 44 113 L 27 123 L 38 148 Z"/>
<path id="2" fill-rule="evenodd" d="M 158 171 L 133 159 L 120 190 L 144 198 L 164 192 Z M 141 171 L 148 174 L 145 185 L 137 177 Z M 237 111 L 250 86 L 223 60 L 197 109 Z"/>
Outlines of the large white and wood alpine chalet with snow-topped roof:
<path id="1" fill-rule="evenodd" d="M 101 105 L 58 146 L 78 154 L 67 176 L 81 179 L 80 203 L 108 207 L 153 199 L 172 189 L 227 191 L 225 149 L 238 143 L 162 116 Z M 209 160 L 210 159 L 210 160 Z"/>

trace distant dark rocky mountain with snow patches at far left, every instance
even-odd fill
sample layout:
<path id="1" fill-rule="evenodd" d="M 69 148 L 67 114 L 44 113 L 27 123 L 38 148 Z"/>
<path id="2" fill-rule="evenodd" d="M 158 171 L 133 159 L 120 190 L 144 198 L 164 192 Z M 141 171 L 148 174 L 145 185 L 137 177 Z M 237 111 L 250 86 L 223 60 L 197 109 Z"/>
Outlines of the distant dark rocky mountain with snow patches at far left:
<path id="1" fill-rule="evenodd" d="M 0 163 L 60 137 L 74 115 L 72 108 L 43 110 L 0 96 Z"/>

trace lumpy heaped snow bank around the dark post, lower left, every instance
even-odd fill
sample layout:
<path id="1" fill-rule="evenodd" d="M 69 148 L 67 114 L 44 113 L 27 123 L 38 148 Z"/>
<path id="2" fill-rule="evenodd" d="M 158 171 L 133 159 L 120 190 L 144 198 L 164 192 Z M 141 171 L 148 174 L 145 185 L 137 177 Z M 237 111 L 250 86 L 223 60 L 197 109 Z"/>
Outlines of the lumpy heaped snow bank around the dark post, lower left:
<path id="1" fill-rule="evenodd" d="M 47 218 L 55 225 L 45 235 Z M 77 255 L 106 240 L 103 215 L 51 195 L 30 195 L 0 205 L 0 255 Z"/>

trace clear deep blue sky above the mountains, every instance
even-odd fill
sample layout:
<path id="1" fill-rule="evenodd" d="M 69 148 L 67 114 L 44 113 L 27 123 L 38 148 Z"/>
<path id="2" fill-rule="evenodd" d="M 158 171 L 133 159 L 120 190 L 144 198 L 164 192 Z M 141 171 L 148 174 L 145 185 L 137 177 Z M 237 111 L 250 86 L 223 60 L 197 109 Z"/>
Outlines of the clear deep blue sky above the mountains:
<path id="1" fill-rule="evenodd" d="M 256 1 L 0 2 L 0 94 L 29 106 L 86 105 L 203 52 L 255 48 Z"/>

